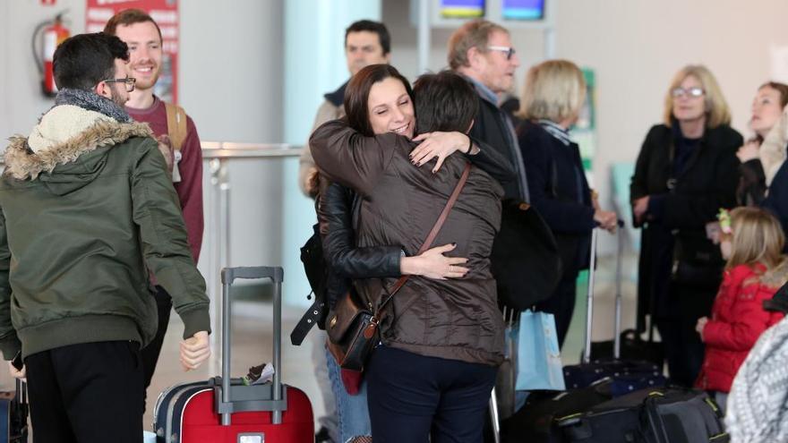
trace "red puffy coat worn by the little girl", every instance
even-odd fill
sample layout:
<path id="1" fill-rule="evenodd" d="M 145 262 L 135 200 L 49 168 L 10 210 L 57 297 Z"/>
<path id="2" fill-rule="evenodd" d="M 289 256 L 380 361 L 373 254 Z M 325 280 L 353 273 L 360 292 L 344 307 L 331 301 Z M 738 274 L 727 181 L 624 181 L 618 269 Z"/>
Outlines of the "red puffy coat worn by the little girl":
<path id="1" fill-rule="evenodd" d="M 781 267 L 782 268 L 782 267 Z M 729 392 L 733 378 L 763 331 L 783 318 L 764 311 L 779 284 L 772 284 L 766 267 L 739 265 L 725 270 L 711 318 L 703 329 L 706 355 L 696 388 Z"/>

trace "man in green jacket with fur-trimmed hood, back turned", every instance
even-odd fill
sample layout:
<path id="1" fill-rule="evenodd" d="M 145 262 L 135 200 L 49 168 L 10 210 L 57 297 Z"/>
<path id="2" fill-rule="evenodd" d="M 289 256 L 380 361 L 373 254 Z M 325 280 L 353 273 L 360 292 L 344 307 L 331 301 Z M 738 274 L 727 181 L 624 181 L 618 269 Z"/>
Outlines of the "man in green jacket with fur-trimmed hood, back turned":
<path id="1" fill-rule="evenodd" d="M 36 441 L 139 442 L 140 349 L 156 333 L 148 268 L 184 320 L 181 363 L 210 356 L 205 282 L 165 160 L 124 103 L 128 47 L 65 40 L 59 90 L 0 179 L 0 350 L 27 376 Z"/>

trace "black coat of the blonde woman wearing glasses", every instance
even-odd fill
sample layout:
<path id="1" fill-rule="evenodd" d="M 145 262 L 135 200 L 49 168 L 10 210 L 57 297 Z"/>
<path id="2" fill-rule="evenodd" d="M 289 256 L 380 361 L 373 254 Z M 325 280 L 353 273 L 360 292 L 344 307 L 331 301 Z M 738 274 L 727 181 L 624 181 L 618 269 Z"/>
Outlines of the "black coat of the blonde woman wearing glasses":
<path id="1" fill-rule="evenodd" d="M 670 311 L 667 290 L 671 279 L 694 276 L 699 277 L 696 280 L 700 281 L 693 282 L 698 287 L 719 285 L 724 261 L 719 247 L 707 238 L 706 224 L 716 219 L 720 208 L 736 206 L 740 176 L 736 150 L 743 142 L 741 134 L 728 125 L 707 129 L 683 172 L 674 177 L 676 183 L 670 190 L 675 137 L 664 124 L 651 128 L 630 186 L 633 202 L 647 195 L 664 199 L 662 217 L 642 225 L 638 268 L 641 329 L 643 316 L 652 311 L 652 302 L 657 316 Z"/>

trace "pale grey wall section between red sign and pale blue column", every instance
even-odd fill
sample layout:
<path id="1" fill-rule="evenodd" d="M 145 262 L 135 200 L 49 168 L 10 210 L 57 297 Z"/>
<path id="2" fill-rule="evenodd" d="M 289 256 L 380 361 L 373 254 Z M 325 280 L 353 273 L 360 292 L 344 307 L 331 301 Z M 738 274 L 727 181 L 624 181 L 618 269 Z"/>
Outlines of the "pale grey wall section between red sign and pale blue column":
<path id="1" fill-rule="evenodd" d="M 203 141 L 282 141 L 282 0 L 181 1 L 181 92 Z"/>

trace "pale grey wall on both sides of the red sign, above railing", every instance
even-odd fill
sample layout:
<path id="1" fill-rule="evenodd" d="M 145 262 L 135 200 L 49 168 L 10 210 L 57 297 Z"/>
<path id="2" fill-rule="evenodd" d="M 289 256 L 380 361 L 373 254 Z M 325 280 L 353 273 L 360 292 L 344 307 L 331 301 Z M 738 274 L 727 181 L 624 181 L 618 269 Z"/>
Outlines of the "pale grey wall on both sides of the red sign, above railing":
<path id="1" fill-rule="evenodd" d="M 179 97 L 203 141 L 282 140 L 282 0 L 180 2 Z M 30 38 L 68 9 L 72 35 L 84 32 L 85 1 L 0 2 L 0 138 L 30 132 L 52 100 L 39 93 Z"/>

